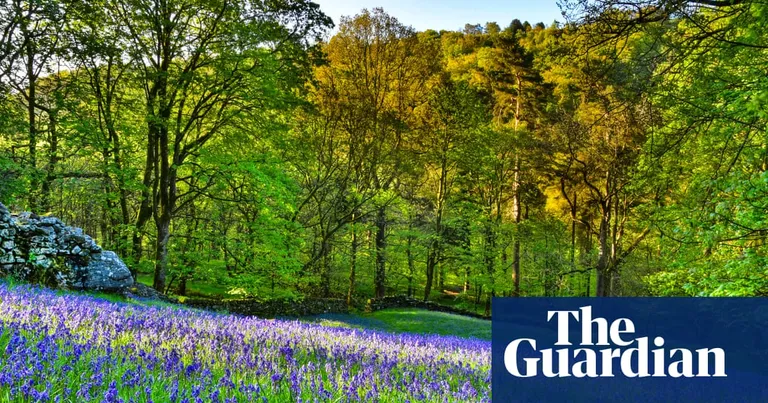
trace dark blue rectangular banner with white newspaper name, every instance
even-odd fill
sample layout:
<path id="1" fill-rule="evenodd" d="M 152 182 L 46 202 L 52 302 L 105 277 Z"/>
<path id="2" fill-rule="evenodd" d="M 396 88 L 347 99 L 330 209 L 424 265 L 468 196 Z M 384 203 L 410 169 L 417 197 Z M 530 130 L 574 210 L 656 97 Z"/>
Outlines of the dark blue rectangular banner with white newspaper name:
<path id="1" fill-rule="evenodd" d="M 768 402 L 768 299 L 494 298 L 494 402 Z"/>

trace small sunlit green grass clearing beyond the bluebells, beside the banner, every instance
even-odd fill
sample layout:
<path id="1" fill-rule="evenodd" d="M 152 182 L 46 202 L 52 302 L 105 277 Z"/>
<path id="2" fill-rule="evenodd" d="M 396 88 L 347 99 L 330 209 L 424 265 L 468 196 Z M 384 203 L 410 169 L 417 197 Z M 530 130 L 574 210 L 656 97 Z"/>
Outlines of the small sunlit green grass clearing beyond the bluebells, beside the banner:
<path id="1" fill-rule="evenodd" d="M 384 309 L 369 314 L 323 314 L 303 320 L 324 326 L 375 329 L 393 333 L 491 339 L 490 321 L 417 308 Z"/>

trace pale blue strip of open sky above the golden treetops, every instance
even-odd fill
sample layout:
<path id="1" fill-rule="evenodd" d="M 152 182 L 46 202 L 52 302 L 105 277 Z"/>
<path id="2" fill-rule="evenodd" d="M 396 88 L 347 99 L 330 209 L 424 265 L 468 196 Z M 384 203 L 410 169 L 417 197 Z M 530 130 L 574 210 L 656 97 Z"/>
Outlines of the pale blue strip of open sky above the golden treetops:
<path id="1" fill-rule="evenodd" d="M 517 18 L 531 24 L 564 21 L 556 0 L 314 0 L 338 25 L 342 15 L 352 16 L 363 8 L 381 7 L 387 14 L 417 31 L 462 30 L 464 24 L 495 21 L 502 28 Z"/>

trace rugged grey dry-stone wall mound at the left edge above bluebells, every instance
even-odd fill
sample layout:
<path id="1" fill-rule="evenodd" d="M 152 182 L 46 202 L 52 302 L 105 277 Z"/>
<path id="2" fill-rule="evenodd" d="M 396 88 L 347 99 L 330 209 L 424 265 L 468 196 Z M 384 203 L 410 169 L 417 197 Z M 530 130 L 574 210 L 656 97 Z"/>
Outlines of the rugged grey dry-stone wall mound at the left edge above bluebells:
<path id="1" fill-rule="evenodd" d="M 0 275 L 48 287 L 116 291 L 133 284 L 114 252 L 56 217 L 12 214 L 0 204 Z"/>

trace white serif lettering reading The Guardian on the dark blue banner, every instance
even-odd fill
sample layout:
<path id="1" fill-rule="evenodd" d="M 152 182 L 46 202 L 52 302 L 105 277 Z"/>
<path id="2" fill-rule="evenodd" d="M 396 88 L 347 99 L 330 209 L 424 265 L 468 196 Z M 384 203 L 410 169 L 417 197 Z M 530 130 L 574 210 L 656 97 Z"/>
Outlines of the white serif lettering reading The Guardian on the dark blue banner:
<path id="1" fill-rule="evenodd" d="M 539 351 L 535 339 L 514 340 L 504 350 L 504 366 L 510 374 L 519 378 L 539 374 L 548 378 L 599 378 L 613 377 L 615 373 L 630 378 L 727 377 L 725 351 L 722 348 L 667 350 L 663 337 L 654 337 L 652 341 L 648 337 L 633 337 L 635 324 L 630 319 L 620 318 L 610 324 L 605 318 L 593 319 L 591 306 L 583 306 L 576 311 L 548 311 L 547 321 L 552 320 L 557 323 L 555 346 L 567 347 Z M 573 342 L 569 337 L 569 326 L 575 324 L 581 326 L 580 348 L 571 347 Z M 522 358 L 524 364 L 518 363 L 521 349 L 533 350 L 535 356 Z M 529 354 L 522 356 L 526 355 Z"/>

